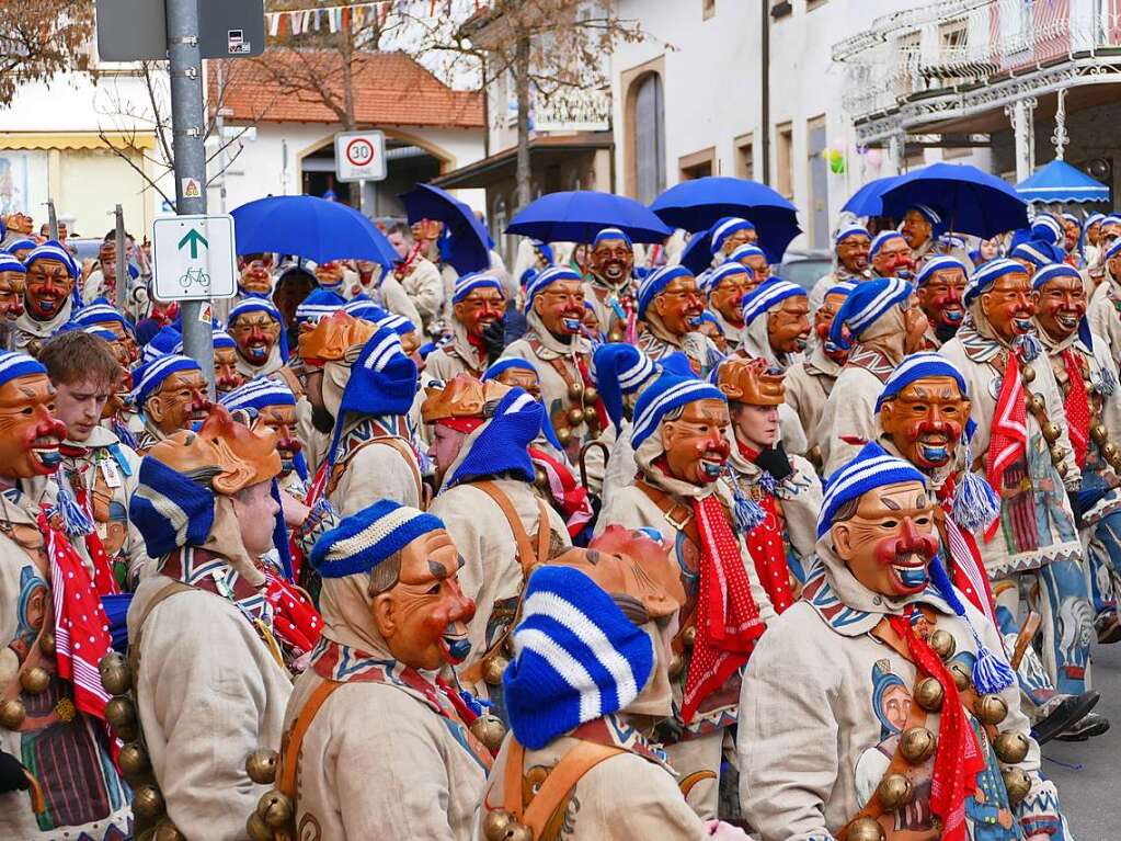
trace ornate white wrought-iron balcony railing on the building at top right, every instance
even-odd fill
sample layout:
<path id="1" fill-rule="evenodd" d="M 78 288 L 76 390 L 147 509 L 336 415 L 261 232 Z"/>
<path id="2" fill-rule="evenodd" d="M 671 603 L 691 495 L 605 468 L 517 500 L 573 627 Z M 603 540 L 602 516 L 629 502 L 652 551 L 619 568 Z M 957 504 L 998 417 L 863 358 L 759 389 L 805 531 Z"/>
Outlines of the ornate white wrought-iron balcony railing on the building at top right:
<path id="1" fill-rule="evenodd" d="M 1121 0 L 948 0 L 874 20 L 833 61 L 860 120 L 1103 49 L 1121 49 Z"/>

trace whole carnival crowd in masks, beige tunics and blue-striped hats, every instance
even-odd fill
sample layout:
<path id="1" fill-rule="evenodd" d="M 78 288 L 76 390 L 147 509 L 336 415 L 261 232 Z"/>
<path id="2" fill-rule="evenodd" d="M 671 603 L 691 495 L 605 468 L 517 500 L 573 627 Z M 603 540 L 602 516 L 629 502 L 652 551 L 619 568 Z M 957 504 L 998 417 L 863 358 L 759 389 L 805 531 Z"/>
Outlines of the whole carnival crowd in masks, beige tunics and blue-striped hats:
<path id="1" fill-rule="evenodd" d="M 210 377 L 6 218 L 0 839 L 1069 839 L 1121 216 L 948 219 L 245 253 Z"/>

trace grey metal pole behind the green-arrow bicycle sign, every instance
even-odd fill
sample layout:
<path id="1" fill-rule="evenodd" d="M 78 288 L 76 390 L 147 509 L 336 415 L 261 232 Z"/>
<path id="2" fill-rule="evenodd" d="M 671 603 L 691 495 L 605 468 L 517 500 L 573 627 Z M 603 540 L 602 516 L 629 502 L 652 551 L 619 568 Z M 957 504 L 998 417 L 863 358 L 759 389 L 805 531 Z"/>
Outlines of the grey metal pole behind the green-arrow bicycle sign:
<path id="1" fill-rule="evenodd" d="M 175 135 L 175 209 L 179 215 L 206 212 L 206 150 L 203 147 L 203 62 L 198 49 L 197 0 L 166 0 L 172 128 Z M 189 192 L 193 195 L 187 195 Z M 198 362 L 214 391 L 214 336 L 204 304 L 182 304 L 183 351 Z"/>

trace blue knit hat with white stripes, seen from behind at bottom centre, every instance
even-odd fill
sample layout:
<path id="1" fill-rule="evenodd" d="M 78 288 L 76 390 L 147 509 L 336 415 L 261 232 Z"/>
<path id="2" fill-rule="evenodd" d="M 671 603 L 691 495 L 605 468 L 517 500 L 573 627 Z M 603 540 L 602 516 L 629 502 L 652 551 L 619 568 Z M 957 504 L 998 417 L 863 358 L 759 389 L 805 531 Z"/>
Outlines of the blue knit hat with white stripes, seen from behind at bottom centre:
<path id="1" fill-rule="evenodd" d="M 502 686 L 513 736 L 530 750 L 626 709 L 654 671 L 650 638 L 572 567 L 534 571 L 512 641 Z"/>

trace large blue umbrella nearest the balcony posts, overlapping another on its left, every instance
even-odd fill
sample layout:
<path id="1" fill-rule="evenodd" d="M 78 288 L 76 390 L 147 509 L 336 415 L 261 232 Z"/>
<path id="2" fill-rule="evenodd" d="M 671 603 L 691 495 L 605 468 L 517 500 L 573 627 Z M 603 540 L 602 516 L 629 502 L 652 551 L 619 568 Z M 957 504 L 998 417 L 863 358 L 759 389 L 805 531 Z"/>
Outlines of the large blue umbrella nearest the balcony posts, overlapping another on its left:
<path id="1" fill-rule="evenodd" d="M 947 230 L 984 239 L 1028 227 L 1028 203 L 1012 185 L 969 164 L 930 164 L 901 175 L 882 200 L 886 216 L 902 219 L 925 204 L 942 214 Z"/>

